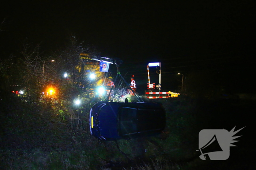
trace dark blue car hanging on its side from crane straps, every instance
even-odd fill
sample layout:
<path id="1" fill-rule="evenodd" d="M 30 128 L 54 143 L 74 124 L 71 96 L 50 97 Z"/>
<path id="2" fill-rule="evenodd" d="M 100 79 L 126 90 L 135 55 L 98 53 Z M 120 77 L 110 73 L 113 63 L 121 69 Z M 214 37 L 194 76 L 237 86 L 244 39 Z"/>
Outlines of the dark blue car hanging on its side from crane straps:
<path id="1" fill-rule="evenodd" d="M 165 110 L 157 103 L 98 102 L 90 111 L 90 132 L 102 140 L 158 135 Z"/>

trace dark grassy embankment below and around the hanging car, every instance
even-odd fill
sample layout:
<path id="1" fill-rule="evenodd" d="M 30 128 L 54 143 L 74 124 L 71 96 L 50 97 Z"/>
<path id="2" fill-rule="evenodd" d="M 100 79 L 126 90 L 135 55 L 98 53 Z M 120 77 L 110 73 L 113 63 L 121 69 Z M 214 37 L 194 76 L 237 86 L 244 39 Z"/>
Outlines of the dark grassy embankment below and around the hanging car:
<path id="1" fill-rule="evenodd" d="M 251 168 L 251 104 L 226 100 L 155 100 L 166 109 L 166 129 L 155 137 L 99 141 L 89 133 L 88 114 L 57 115 L 49 103 L 16 96 L 0 102 L 0 169 L 248 169 Z M 246 108 L 246 109 L 245 109 Z M 86 109 L 85 109 L 86 110 Z M 88 110 L 88 109 L 87 109 Z M 255 111 L 255 110 L 254 110 Z M 78 123 L 79 122 L 79 123 Z M 243 135 L 226 161 L 202 161 L 202 129 L 236 130 Z M 242 142 L 243 141 L 243 142 Z M 252 145 L 253 147 L 253 145 Z M 118 149 L 119 148 L 119 149 Z"/>

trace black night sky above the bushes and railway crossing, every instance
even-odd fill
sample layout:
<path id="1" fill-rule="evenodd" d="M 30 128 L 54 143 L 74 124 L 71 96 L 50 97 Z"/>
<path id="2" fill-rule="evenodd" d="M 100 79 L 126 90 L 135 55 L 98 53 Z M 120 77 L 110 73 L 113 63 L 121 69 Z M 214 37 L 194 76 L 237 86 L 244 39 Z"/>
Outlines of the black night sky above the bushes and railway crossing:
<path id="1" fill-rule="evenodd" d="M 163 90 L 178 89 L 178 72 L 217 65 L 233 92 L 255 92 L 254 11 L 253 0 L 5 1 L 0 55 L 19 51 L 26 38 L 50 54 L 75 35 L 101 56 L 122 59 L 121 74 L 135 75 L 143 90 L 147 63 L 161 62 Z"/>

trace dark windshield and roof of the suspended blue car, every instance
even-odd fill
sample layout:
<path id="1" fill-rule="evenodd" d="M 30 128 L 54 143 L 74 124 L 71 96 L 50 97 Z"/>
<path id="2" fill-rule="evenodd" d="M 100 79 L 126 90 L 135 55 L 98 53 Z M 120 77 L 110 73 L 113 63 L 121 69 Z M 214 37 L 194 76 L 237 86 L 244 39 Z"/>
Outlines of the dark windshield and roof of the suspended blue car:
<path id="1" fill-rule="evenodd" d="M 163 128 L 163 110 L 122 107 L 119 112 L 118 131 L 130 135 Z"/>

